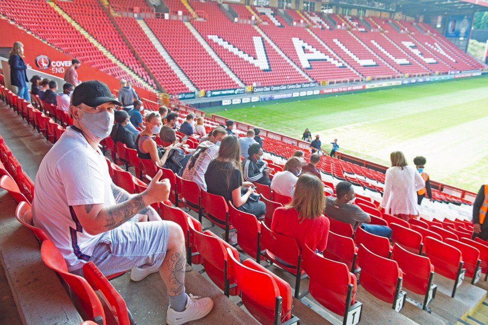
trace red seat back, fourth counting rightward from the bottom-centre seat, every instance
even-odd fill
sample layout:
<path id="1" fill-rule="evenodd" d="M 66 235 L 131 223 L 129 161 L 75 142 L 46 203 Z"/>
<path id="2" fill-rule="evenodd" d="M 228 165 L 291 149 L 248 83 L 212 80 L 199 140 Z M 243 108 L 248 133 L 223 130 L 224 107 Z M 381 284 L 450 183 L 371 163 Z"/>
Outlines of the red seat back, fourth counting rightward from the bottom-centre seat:
<path id="1" fill-rule="evenodd" d="M 429 290 L 429 278 L 434 266 L 428 257 L 411 253 L 400 245 L 393 246 L 391 259 L 403 271 L 403 286 L 412 292 L 425 295 Z"/>

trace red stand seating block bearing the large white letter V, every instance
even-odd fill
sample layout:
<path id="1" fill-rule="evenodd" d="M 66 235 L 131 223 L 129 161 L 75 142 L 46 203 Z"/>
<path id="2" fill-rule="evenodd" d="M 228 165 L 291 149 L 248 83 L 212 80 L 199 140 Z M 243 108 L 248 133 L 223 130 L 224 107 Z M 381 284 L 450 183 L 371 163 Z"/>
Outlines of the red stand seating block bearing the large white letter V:
<path id="1" fill-rule="evenodd" d="M 205 10 L 211 17 L 208 21 L 193 20 L 193 26 L 245 84 L 309 82 L 262 39 L 252 25 L 231 22 L 216 3 L 190 4 L 194 9 Z"/>

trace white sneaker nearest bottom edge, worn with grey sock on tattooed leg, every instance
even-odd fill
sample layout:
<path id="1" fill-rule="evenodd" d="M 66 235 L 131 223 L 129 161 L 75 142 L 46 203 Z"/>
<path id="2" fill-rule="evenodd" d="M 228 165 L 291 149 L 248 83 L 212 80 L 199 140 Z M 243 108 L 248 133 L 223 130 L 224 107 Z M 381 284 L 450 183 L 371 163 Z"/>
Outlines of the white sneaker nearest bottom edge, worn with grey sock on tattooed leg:
<path id="1" fill-rule="evenodd" d="M 187 298 L 187 305 L 184 311 L 175 311 L 168 306 L 166 314 L 166 323 L 168 325 L 181 325 L 189 321 L 200 319 L 208 315 L 214 307 L 214 301 L 210 298 L 201 298 L 189 294 Z"/>

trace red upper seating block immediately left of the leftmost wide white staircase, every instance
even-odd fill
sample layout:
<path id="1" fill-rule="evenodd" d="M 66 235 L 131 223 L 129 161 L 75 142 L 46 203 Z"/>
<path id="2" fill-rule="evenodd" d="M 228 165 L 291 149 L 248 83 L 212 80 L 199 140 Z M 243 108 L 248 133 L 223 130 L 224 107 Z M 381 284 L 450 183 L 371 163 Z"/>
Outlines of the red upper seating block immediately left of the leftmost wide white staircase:
<path id="1" fill-rule="evenodd" d="M 144 34 L 141 26 L 139 26 L 134 18 L 114 17 L 114 19 L 120 27 L 120 31 L 132 43 L 137 54 L 168 94 L 187 93 L 190 91 L 176 76 L 166 61 L 163 60 L 163 57 Z"/>

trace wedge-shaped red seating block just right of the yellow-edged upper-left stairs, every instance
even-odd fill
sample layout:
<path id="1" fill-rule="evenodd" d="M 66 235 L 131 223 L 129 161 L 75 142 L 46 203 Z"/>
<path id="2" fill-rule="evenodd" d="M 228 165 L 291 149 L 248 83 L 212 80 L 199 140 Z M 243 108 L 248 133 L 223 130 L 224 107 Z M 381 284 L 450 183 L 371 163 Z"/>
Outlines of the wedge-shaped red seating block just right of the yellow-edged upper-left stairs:
<path id="1" fill-rule="evenodd" d="M 132 50 L 110 21 L 110 18 L 98 0 L 58 1 L 56 4 L 112 52 L 121 62 L 156 87 L 156 83 L 154 83 L 154 80 L 151 80 L 144 67 L 137 61 Z"/>

